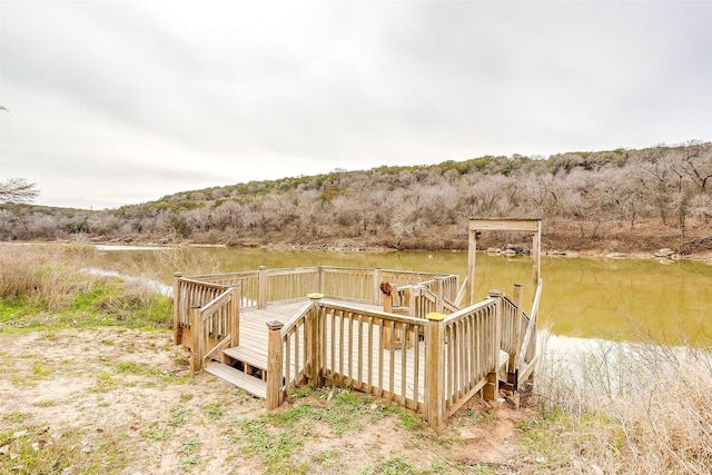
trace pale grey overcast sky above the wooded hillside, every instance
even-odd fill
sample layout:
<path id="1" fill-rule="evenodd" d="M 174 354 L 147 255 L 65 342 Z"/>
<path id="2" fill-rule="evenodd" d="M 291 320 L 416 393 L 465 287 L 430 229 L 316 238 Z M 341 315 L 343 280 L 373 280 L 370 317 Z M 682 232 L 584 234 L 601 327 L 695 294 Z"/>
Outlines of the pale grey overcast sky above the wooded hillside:
<path id="1" fill-rule="evenodd" d="M 0 180 L 40 205 L 712 140 L 712 1 L 0 0 Z"/>

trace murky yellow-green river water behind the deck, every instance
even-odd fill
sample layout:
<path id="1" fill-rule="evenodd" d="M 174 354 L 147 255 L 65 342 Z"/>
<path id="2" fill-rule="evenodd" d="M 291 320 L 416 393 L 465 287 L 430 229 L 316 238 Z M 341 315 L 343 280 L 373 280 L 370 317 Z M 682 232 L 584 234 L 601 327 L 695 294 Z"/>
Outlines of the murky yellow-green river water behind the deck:
<path id="1" fill-rule="evenodd" d="M 455 273 L 464 279 L 465 253 L 333 253 L 233 248 L 107 250 L 91 264 L 123 274 L 157 274 L 170 283 L 186 275 L 214 271 L 332 265 Z M 634 338 L 634 327 L 659 340 L 698 345 L 712 339 L 712 266 L 679 261 L 544 257 L 540 321 L 557 335 Z M 524 284 L 530 306 L 532 260 L 528 257 L 477 255 L 476 297 L 498 288 L 511 294 Z"/>

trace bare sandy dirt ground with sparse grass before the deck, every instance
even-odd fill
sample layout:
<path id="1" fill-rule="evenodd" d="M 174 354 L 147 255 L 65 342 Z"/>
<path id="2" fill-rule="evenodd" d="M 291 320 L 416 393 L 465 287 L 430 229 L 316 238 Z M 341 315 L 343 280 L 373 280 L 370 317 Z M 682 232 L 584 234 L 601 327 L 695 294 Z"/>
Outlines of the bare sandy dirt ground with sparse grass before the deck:
<path id="1" fill-rule="evenodd" d="M 259 447 L 246 449 L 236 436 L 240 420 L 265 418 L 263 402 L 209 374 L 190 379 L 166 331 L 0 333 L 0 356 L 1 473 L 275 472 Z M 374 400 L 370 410 L 385 404 Z M 289 467 L 411 473 L 384 468 L 400 461 L 418 472 L 518 473 L 516 427 L 530 415 L 477 399 L 441 434 L 404 428 L 393 415 L 344 434 L 314 420 L 298 426 L 304 443 Z"/>

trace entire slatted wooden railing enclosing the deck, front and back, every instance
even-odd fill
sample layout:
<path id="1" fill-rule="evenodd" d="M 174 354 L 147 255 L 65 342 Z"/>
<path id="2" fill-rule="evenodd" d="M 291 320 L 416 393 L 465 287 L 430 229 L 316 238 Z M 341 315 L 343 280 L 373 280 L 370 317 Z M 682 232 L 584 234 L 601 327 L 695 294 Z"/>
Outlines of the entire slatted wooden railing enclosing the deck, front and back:
<path id="1" fill-rule="evenodd" d="M 456 299 L 456 278 L 388 273 L 396 271 L 315 267 L 177 276 L 177 343 L 191 347 L 191 369 L 197 372 L 221 347 L 237 345 L 239 308 L 246 304 L 303 299 L 304 294 L 297 293 L 316 287 L 373 305 L 384 297 L 376 283 L 421 277 L 422 281 L 403 284 L 393 295 L 397 303 L 407 300 L 411 315 L 312 294 L 284 325 L 269 323 L 267 407 L 281 405 L 299 385 L 328 383 L 393 400 L 437 427 L 477 392 L 490 399 L 498 397 L 503 369 L 514 387 L 531 375 L 541 281 L 527 316 L 517 287 L 513 298 L 491 291 L 485 300 L 457 309 L 451 300 Z M 208 278 L 211 281 L 201 281 Z M 508 358 L 503 363 L 504 354 Z"/>

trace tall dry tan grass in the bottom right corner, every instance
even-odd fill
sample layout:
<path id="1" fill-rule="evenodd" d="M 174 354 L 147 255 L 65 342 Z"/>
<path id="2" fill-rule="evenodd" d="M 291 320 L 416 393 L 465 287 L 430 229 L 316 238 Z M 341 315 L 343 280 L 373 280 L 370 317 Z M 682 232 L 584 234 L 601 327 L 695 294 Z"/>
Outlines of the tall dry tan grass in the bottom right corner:
<path id="1" fill-rule="evenodd" d="M 709 474 L 712 353 L 655 342 L 550 350 L 525 425 L 534 473 Z"/>

